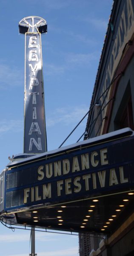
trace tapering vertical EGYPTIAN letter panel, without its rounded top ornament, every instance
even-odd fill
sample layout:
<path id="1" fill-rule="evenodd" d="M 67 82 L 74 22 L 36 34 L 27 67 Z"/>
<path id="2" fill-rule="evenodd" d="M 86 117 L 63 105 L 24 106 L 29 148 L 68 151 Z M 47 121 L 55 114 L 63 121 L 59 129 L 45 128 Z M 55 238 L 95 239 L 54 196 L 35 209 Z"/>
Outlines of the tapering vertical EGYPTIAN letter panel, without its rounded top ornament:
<path id="1" fill-rule="evenodd" d="M 24 153 L 46 151 L 40 33 L 26 33 Z"/>

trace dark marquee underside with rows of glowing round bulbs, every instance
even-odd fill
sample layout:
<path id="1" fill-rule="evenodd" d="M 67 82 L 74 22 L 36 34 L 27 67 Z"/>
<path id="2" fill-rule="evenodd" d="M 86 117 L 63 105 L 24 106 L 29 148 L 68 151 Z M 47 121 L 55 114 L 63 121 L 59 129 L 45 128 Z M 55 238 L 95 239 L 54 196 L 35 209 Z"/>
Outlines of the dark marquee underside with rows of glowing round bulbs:
<path id="1" fill-rule="evenodd" d="M 2 215 L 1 220 L 24 227 L 108 234 L 134 212 L 133 205 L 134 191 L 131 190 L 64 204 L 31 207 Z"/>

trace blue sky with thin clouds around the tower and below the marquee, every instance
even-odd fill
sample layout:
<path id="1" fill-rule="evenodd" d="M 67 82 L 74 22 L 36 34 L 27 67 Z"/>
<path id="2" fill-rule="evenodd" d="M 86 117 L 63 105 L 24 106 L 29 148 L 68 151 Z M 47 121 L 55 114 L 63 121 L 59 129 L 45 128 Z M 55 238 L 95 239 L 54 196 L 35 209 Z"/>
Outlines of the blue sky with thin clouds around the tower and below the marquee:
<path id="1" fill-rule="evenodd" d="M 56 149 L 89 109 L 112 0 L 0 0 L 0 168 L 23 152 L 24 45 L 18 23 L 43 17 L 48 150 Z M 75 143 L 85 119 L 64 145 Z M 0 255 L 29 255 L 30 231 L 0 224 Z M 38 256 L 77 256 L 78 237 L 36 232 Z"/>

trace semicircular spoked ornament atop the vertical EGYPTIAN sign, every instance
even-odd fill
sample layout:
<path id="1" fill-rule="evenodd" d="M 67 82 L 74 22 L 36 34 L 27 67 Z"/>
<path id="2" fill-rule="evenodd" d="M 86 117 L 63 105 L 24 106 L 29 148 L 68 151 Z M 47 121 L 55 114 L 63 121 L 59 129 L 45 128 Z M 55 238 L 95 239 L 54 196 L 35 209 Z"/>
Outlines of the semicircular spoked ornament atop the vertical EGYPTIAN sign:
<path id="1" fill-rule="evenodd" d="M 47 23 L 41 17 L 29 16 L 19 22 L 19 32 L 25 33 L 47 33 Z"/>

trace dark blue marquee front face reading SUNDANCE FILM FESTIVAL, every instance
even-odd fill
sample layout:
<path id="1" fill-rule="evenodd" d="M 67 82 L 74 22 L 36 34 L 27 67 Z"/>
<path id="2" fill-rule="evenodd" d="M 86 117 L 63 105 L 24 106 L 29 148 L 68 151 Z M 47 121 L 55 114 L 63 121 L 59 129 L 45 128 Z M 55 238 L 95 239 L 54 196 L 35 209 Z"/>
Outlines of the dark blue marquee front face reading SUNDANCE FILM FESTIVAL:
<path id="1" fill-rule="evenodd" d="M 97 138 L 12 163 L 6 171 L 5 210 L 134 189 L 134 135 Z"/>

